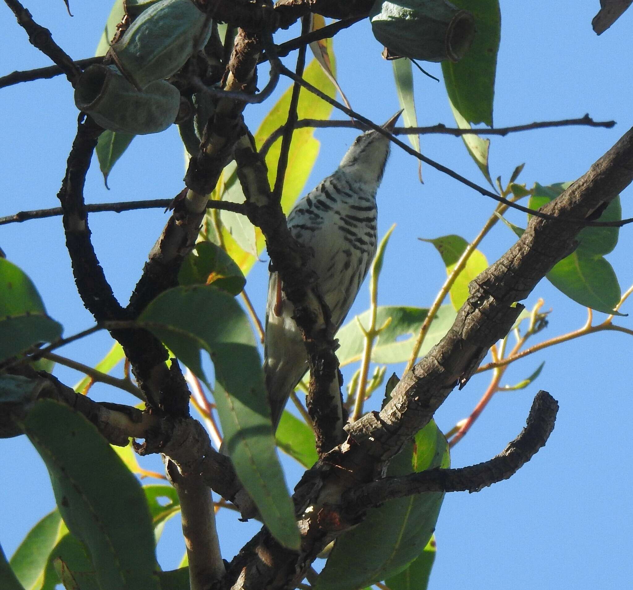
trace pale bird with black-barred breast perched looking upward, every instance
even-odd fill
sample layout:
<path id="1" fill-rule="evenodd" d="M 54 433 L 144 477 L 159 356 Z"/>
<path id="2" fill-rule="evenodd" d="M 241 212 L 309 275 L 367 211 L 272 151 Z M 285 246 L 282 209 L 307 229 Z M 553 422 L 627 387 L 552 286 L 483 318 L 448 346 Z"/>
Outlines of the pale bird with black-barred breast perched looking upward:
<path id="1" fill-rule="evenodd" d="M 392 131 L 402 111 L 383 129 Z M 354 302 L 377 247 L 376 191 L 391 142 L 377 131 L 354 140 L 331 176 L 299 200 L 288 215 L 292 236 L 311 253 L 308 270 L 338 330 Z M 264 372 L 277 428 L 289 395 L 308 369 L 308 356 L 277 273 L 268 281 Z"/>

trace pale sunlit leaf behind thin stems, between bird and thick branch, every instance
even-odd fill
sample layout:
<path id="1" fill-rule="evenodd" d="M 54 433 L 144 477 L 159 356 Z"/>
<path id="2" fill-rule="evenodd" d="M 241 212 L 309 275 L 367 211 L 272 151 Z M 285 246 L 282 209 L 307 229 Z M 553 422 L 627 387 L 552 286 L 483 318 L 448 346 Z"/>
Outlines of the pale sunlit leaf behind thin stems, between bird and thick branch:
<path id="1" fill-rule="evenodd" d="M 429 310 L 423 307 L 398 307 L 379 305 L 376 314 L 376 325 L 383 326 L 388 317 L 391 323 L 380 332 L 372 349 L 372 362 L 390 364 L 406 362 L 411 355 L 413 344 L 417 340 L 424 318 Z M 424 356 L 448 332 L 455 319 L 452 305 L 442 305 L 437 316 L 431 322 L 429 332 L 424 340 L 420 356 Z M 368 326 L 370 310 L 358 316 L 363 326 Z M 408 336 L 408 338 L 404 338 Z M 336 351 L 341 366 L 360 361 L 365 345 L 365 335 L 360 331 L 356 319 L 351 319 L 336 335 L 340 347 Z"/>

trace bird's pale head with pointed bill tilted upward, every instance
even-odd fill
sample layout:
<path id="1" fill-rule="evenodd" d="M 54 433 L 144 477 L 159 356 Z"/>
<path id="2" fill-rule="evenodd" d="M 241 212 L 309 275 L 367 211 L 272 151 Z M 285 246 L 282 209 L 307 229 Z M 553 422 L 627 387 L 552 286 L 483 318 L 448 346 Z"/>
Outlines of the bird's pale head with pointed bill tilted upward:
<path id="1" fill-rule="evenodd" d="M 398 111 L 382 128 L 393 131 L 402 111 Z M 378 186 L 389 158 L 391 141 L 377 131 L 366 131 L 354 139 L 339 165 L 339 169 L 356 181 Z"/>

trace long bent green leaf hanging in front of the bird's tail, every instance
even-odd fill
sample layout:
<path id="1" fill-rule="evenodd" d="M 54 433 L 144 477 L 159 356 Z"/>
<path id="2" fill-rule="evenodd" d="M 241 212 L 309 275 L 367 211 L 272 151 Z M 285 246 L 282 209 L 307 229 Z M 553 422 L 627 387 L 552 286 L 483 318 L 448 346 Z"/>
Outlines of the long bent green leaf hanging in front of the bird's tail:
<path id="1" fill-rule="evenodd" d="M 298 548 L 292 500 L 275 452 L 260 354 L 248 317 L 213 286 L 181 286 L 161 293 L 139 317 L 191 371 L 215 391 L 224 444 L 271 534 Z M 201 350 L 215 369 L 211 388 Z"/>

